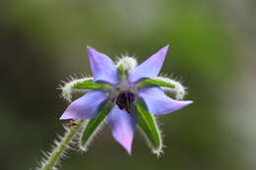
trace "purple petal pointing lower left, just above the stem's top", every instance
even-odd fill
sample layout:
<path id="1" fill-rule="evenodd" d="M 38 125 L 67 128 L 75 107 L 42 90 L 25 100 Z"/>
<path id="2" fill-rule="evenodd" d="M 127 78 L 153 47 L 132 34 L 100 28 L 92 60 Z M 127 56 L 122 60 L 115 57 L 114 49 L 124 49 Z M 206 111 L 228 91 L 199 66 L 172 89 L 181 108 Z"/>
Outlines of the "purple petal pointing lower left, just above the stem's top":
<path id="1" fill-rule="evenodd" d="M 100 90 L 92 90 L 73 101 L 60 119 L 92 119 L 98 113 L 98 107 L 108 95 Z"/>

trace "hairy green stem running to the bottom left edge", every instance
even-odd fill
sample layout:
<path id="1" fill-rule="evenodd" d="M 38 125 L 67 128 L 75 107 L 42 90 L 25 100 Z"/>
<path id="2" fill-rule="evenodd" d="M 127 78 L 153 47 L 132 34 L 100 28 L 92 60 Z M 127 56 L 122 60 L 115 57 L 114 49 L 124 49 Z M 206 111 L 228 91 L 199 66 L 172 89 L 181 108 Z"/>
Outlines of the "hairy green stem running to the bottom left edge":
<path id="1" fill-rule="evenodd" d="M 84 120 L 80 120 L 77 125 L 70 127 L 65 136 L 56 145 L 56 148 L 50 153 L 47 160 L 42 164 L 40 170 L 52 170 L 58 164 L 58 161 L 63 156 L 64 151 L 68 148 L 70 142 L 73 141 L 74 137 L 80 130 Z"/>

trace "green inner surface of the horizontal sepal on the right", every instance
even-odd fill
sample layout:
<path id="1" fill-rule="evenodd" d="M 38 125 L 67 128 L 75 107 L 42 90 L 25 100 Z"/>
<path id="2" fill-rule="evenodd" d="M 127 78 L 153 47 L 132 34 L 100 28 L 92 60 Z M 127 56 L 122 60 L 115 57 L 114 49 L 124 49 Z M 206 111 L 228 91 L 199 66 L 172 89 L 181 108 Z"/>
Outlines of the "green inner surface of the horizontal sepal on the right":
<path id="1" fill-rule="evenodd" d="M 136 86 L 139 88 L 150 87 L 150 86 L 165 86 L 165 87 L 175 88 L 175 85 L 172 85 L 160 80 L 153 80 L 153 79 L 145 79 L 139 82 Z"/>

